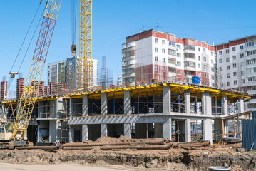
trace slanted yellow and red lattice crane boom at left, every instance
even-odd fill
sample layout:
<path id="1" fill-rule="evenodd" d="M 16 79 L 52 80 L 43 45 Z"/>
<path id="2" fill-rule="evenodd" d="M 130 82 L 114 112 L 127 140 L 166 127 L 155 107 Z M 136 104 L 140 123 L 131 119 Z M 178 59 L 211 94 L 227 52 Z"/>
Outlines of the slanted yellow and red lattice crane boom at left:
<path id="1" fill-rule="evenodd" d="M 61 7 L 61 1 L 62 0 L 48 0 L 46 4 L 34 56 L 26 78 L 24 91 L 19 99 L 19 107 L 14 122 L 12 139 L 26 138 L 26 130 L 29 126 L 29 120 L 36 103 L 36 97 L 39 94 L 39 85 L 43 67 L 51 44 L 51 38 L 58 18 L 58 11 Z M 17 136 L 18 134 L 19 137 Z"/>

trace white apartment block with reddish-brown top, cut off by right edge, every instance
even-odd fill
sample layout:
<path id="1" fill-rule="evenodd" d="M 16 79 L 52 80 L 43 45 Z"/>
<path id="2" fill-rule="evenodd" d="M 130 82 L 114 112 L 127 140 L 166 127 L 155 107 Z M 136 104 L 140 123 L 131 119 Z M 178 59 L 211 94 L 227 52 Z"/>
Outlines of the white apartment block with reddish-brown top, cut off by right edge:
<path id="1" fill-rule="evenodd" d="M 252 95 L 246 109 L 256 110 L 256 36 L 248 36 L 215 46 L 215 83 L 219 88 Z"/>

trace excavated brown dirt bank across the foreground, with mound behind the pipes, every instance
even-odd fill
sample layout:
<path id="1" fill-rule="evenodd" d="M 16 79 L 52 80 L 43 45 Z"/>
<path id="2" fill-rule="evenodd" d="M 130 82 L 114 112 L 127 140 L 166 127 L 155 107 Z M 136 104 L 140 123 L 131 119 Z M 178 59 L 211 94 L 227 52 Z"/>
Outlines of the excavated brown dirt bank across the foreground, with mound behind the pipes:
<path id="1" fill-rule="evenodd" d="M 116 143 L 135 140 L 127 138 L 99 138 L 95 143 Z M 91 143 L 87 141 L 87 143 Z M 246 152 L 240 144 L 191 149 L 172 148 L 169 150 L 0 150 L 0 162 L 50 165 L 51 170 L 58 165 L 94 165 L 102 169 L 118 170 L 208 170 L 210 166 L 227 166 L 232 170 L 256 170 L 256 152 Z M 3 164 L 6 165 L 6 164 Z M 14 165 L 14 167 L 16 167 Z M 117 167 L 118 165 L 118 167 Z M 42 166 L 43 169 L 47 168 Z M 48 166 L 47 166 L 48 167 Z M 85 168 L 86 168 L 85 167 Z M 93 167 L 93 168 L 96 168 Z M 4 167 L 1 167 L 4 168 Z M 0 168 L 0 169 L 1 169 Z M 12 168 L 12 167 L 11 167 Z M 37 168 L 37 167 L 33 167 Z M 90 170 L 93 170 L 91 168 Z M 39 170 L 41 167 L 39 167 Z M 87 170 L 87 169 L 86 169 Z M 98 169 L 100 170 L 100 169 Z"/>

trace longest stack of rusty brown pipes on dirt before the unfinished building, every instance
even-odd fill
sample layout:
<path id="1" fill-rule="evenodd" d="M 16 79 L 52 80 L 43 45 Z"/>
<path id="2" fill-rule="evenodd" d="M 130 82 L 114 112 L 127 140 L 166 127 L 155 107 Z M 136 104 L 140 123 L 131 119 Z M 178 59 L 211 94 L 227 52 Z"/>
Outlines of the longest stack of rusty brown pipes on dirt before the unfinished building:
<path id="1" fill-rule="evenodd" d="M 155 139 L 130 139 L 128 142 L 75 142 L 62 145 L 63 150 L 92 150 L 98 148 L 100 150 L 167 150 L 172 145 L 167 138 Z"/>

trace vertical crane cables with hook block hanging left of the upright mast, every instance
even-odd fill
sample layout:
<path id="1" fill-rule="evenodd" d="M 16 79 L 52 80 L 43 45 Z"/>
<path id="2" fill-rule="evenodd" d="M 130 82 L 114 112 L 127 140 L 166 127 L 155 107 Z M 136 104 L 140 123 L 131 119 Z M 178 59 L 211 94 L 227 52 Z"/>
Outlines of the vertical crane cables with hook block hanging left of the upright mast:
<path id="1" fill-rule="evenodd" d="M 71 51 L 72 56 L 76 56 L 76 3 L 77 0 L 71 0 Z"/>

